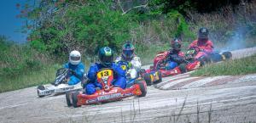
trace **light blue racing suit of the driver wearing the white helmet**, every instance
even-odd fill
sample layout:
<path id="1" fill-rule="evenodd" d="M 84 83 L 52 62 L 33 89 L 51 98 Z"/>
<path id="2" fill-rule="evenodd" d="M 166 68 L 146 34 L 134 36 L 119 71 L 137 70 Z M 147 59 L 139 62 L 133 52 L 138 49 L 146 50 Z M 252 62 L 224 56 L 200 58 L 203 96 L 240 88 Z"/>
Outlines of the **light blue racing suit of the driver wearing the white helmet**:
<path id="1" fill-rule="evenodd" d="M 84 64 L 82 64 L 81 62 L 77 65 L 74 64 L 64 64 L 64 68 L 66 69 L 71 69 L 75 72 L 75 75 L 69 73 L 69 81 L 67 82 L 68 85 L 75 85 L 78 84 L 79 81 L 82 81 L 83 79 L 83 75 L 84 75 Z"/>

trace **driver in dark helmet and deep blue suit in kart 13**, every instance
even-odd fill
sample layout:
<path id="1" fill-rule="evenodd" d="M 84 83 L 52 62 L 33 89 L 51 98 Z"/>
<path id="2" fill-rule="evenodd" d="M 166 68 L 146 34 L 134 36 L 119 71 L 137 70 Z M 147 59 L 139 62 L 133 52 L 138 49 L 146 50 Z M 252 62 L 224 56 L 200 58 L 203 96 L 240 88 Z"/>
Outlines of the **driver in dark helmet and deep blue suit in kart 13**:
<path id="1" fill-rule="evenodd" d="M 96 90 L 102 89 L 102 85 L 96 79 L 96 73 L 103 68 L 113 69 L 114 72 L 114 87 L 121 87 L 125 89 L 126 87 L 126 77 L 125 71 L 121 69 L 119 64 L 113 63 L 113 51 L 111 48 L 103 47 L 99 50 L 98 58 L 100 63 L 95 63 L 90 65 L 88 71 L 89 83 L 85 87 L 86 94 L 93 94 Z"/>

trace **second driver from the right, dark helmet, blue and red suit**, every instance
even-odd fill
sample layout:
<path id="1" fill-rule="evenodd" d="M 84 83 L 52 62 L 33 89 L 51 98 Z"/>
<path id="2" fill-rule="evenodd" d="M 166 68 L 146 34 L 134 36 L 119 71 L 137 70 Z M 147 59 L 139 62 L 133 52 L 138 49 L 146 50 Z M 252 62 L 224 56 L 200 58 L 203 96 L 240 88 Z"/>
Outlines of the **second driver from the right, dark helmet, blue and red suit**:
<path id="1" fill-rule="evenodd" d="M 168 57 L 167 57 L 167 64 L 166 70 L 173 70 L 179 64 L 183 63 L 184 53 L 181 51 L 181 40 L 178 38 L 174 38 L 171 41 L 172 49 L 170 49 Z"/>

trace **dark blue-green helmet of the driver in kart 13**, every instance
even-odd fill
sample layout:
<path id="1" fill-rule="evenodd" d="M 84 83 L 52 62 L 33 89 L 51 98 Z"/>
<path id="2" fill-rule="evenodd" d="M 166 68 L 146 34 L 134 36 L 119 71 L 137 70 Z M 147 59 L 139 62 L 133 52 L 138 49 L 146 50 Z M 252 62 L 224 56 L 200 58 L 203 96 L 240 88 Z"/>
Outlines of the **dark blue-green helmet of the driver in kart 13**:
<path id="1" fill-rule="evenodd" d="M 105 67 L 110 67 L 113 63 L 113 51 L 111 48 L 103 47 L 100 48 L 98 57 L 100 59 L 100 62 Z"/>

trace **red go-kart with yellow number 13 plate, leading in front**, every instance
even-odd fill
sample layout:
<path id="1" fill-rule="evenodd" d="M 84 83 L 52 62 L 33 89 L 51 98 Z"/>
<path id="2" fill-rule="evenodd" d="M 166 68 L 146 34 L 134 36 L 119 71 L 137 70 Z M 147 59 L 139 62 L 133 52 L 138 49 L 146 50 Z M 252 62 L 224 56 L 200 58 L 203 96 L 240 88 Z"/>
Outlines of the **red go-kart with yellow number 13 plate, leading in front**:
<path id="1" fill-rule="evenodd" d="M 67 92 L 67 106 L 76 108 L 92 103 L 108 103 L 131 96 L 144 97 L 147 94 L 145 81 L 135 81 L 131 87 L 126 87 L 125 89 L 113 87 L 114 73 L 112 69 L 99 70 L 96 73 L 96 78 L 102 84 L 102 89 L 97 90 L 92 95 L 87 95 L 84 92 Z"/>

